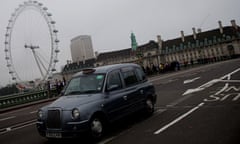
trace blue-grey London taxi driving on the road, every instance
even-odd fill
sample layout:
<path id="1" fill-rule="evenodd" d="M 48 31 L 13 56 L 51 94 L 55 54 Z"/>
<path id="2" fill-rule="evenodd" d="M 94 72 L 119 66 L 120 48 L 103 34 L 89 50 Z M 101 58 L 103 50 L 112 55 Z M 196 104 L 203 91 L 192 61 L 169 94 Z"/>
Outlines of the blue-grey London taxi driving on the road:
<path id="1" fill-rule="evenodd" d="M 133 112 L 151 115 L 154 86 L 137 64 L 84 69 L 75 74 L 63 96 L 38 110 L 37 129 L 46 138 L 65 138 L 87 132 L 100 139 L 108 124 Z"/>

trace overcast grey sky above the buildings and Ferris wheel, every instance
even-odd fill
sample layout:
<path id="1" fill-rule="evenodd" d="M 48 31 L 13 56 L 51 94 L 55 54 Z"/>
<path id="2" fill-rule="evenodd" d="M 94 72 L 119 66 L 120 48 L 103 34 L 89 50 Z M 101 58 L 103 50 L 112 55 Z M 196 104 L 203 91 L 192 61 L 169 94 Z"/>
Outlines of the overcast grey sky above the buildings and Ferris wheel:
<path id="1" fill-rule="evenodd" d="M 11 83 L 4 56 L 4 39 L 6 26 L 11 13 L 23 0 L 0 0 L 0 86 Z M 57 69 L 71 59 L 70 40 L 78 35 L 90 35 L 92 37 L 94 51 L 99 53 L 118 49 L 130 48 L 130 33 L 134 32 L 139 45 L 150 40 L 156 40 L 161 35 L 164 40 L 177 38 L 180 31 L 185 35 L 192 34 L 192 27 L 207 31 L 218 27 L 218 20 L 223 26 L 230 25 L 232 19 L 240 23 L 240 1 L 239 0 L 39 0 L 52 13 L 53 20 L 59 30 L 59 60 Z M 26 27 L 22 25 L 23 16 L 38 13 L 31 10 L 21 14 L 14 25 L 14 39 L 17 41 L 28 41 L 27 36 L 20 38 L 21 30 Z M 36 23 L 44 23 L 36 20 Z M 36 26 L 41 41 L 46 40 L 44 26 Z M 25 28 L 25 30 L 28 30 Z M 24 35 L 24 34 L 23 34 Z M 22 40 L 23 39 L 23 40 Z M 37 40 L 32 40 L 38 43 Z M 22 42 L 26 43 L 26 42 Z M 21 46 L 22 47 L 22 46 Z M 12 48 L 13 49 L 13 48 Z M 16 48 L 15 48 L 16 49 Z M 14 49 L 13 49 L 14 50 Z M 19 49 L 18 49 L 19 50 Z M 21 49 L 27 51 L 26 49 Z M 47 53 L 48 49 L 45 51 Z M 22 53 L 13 52 L 15 61 L 27 63 L 29 59 Z M 29 52 L 31 55 L 31 52 Z M 26 52 L 25 52 L 26 54 Z M 33 58 L 33 57 L 32 57 Z M 30 64 L 19 65 L 18 71 L 28 75 L 34 70 L 29 68 Z M 21 67 L 22 66 L 22 67 Z M 37 69 L 36 67 L 34 69 Z"/>

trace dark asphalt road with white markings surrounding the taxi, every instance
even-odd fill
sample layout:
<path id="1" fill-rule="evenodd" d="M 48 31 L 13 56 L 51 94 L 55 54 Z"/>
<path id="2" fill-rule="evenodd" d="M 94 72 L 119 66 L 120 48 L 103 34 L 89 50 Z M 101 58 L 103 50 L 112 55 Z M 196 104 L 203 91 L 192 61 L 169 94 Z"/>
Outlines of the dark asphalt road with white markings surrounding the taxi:
<path id="1" fill-rule="evenodd" d="M 240 59 L 149 78 L 158 99 L 152 117 L 117 122 L 101 144 L 239 144 Z M 39 136 L 34 105 L 0 114 L 1 144 L 53 143 Z M 74 142 L 77 141 L 77 142 Z M 90 143 L 88 138 L 56 143 Z"/>

